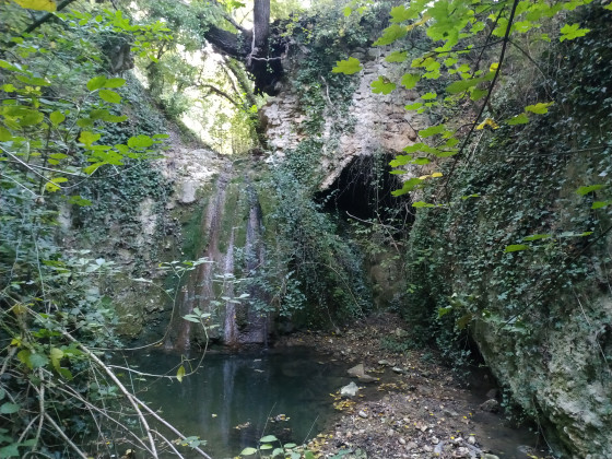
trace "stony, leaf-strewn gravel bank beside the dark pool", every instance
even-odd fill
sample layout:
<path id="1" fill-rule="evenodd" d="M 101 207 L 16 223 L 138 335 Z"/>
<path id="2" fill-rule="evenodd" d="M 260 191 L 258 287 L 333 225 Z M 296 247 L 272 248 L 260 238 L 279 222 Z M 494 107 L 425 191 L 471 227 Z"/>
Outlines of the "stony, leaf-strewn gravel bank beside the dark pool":
<path id="1" fill-rule="evenodd" d="M 408 334 L 398 317 L 384 315 L 346 332 L 298 332 L 279 342 L 354 364 L 353 381 L 331 395 L 341 415 L 310 442 L 311 450 L 326 458 L 549 457 L 534 432 L 506 424 L 485 373 L 466 387 L 432 351 L 400 350 Z"/>

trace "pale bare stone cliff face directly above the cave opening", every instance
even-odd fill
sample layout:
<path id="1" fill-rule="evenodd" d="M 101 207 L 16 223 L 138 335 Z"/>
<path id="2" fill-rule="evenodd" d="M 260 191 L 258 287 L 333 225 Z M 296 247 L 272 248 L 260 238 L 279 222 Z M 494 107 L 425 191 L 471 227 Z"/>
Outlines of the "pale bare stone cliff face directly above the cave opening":
<path id="1" fill-rule="evenodd" d="M 301 90 L 295 87 L 291 76 L 299 70 L 304 52 L 298 50 L 286 62 L 290 78 L 286 79 L 282 92 L 270 98 L 260 110 L 274 161 L 282 161 L 287 150 L 295 149 L 307 137 L 303 126 L 308 120 L 307 107 L 301 104 Z M 380 75 L 389 79 L 401 76 L 396 74 L 396 67 L 384 60 L 387 54 L 388 50 L 382 48 L 368 51 L 357 48 L 351 55 L 362 60 L 364 69 L 354 78 L 356 82 L 353 82 L 355 89 L 346 116 L 351 128 L 341 132 L 336 142 L 329 140 L 333 137 L 332 125 L 339 113 L 329 98 L 326 80 L 321 78 L 318 83 L 327 99 L 327 106 L 321 114 L 325 118 L 321 136 L 329 149 L 322 155 L 320 164 L 323 172 L 321 189 L 329 188 L 356 157 L 373 156 L 377 153 L 400 154 L 405 146 L 414 143 L 417 131 L 428 126 L 425 117 L 404 109 L 407 104 L 416 102 L 416 92 L 400 87 L 392 94 L 373 93 L 370 85 Z"/>

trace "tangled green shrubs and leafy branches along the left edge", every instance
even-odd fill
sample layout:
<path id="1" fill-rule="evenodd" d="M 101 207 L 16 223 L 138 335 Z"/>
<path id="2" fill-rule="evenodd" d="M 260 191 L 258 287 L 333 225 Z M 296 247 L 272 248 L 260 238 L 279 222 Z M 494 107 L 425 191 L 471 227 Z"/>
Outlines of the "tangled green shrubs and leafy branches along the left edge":
<path id="1" fill-rule="evenodd" d="M 104 10 L 62 13 L 59 26 L 17 36 L 28 16 L 15 8 L 0 7 L 3 24 L 11 16 L 0 42 L 13 44 L 0 60 L 0 455 L 83 456 L 92 416 L 98 425 L 110 421 L 110 437 L 117 422 L 138 421 L 129 410 L 122 421 L 104 417 L 126 392 L 105 357 L 89 351 L 119 345 L 115 305 L 105 295 L 117 267 L 72 242 L 62 247 L 66 215 L 94 214 L 98 202 L 122 192 L 109 186 L 126 179 L 121 166 L 152 170 L 149 161 L 160 157 L 166 136 L 139 127 L 141 94 L 132 97 L 129 78 L 105 74 L 105 43 L 120 35 L 146 56 L 151 43 L 168 36 L 161 23 L 138 25 Z M 133 212 L 134 201 L 129 205 Z M 89 229 L 99 240 L 105 226 Z M 80 445 L 58 442 L 63 432 Z"/>

